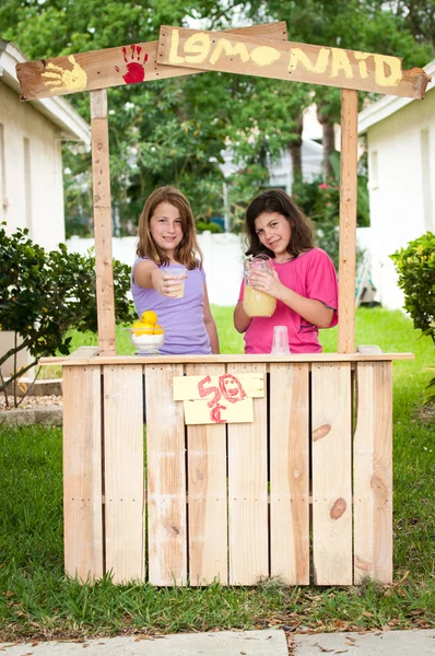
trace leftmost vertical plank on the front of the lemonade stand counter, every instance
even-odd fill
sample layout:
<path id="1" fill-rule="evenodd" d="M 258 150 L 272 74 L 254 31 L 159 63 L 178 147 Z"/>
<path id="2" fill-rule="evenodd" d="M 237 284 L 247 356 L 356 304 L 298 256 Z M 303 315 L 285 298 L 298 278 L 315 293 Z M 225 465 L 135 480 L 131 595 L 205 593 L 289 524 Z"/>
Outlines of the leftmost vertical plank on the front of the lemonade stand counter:
<path id="1" fill-rule="evenodd" d="M 103 563 L 99 366 L 63 367 L 63 539 L 67 574 L 101 578 Z"/>

